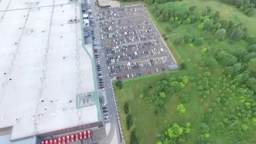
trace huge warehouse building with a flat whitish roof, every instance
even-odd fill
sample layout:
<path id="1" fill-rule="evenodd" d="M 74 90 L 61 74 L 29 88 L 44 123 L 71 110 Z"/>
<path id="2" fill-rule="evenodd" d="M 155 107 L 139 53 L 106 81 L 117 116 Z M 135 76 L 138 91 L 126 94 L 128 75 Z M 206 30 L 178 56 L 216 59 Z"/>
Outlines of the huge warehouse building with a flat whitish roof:
<path id="1" fill-rule="evenodd" d="M 102 126 L 80 13 L 73 0 L 0 0 L 1 144 Z"/>

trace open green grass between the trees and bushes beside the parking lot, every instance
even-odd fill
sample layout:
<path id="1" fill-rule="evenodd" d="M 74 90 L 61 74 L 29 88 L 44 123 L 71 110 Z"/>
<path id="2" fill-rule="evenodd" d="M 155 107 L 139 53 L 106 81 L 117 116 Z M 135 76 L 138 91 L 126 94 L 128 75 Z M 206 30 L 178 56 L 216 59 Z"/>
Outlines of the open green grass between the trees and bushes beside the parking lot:
<path id="1" fill-rule="evenodd" d="M 247 17 L 246 15 L 238 11 L 238 9 L 234 6 L 220 3 L 219 0 L 183 0 L 181 2 L 165 3 L 161 5 L 167 6 L 168 8 L 177 8 L 180 11 L 185 11 L 189 8 L 189 6 L 196 5 L 196 12 L 198 14 L 201 14 L 203 8 L 209 5 L 212 8 L 211 13 L 214 13 L 215 11 L 220 11 L 221 18 L 232 20 L 235 23 L 242 22 L 243 25 L 248 28 L 249 34 L 256 33 L 256 29 L 253 26 L 253 24 L 256 24 L 256 16 Z M 173 29 L 171 32 L 165 33 L 165 27 L 171 27 L 170 24 L 168 22 L 159 22 L 152 13 L 151 6 L 147 6 L 147 11 L 150 17 L 152 18 L 152 21 L 154 22 L 155 26 L 160 31 L 161 35 L 173 34 L 169 36 L 168 40 L 165 42 L 167 43 L 170 51 L 173 53 L 173 56 L 175 57 L 176 61 L 179 64 L 182 61 L 184 61 L 187 65 L 187 70 L 176 70 L 169 72 L 170 75 L 173 77 L 187 75 L 190 79 L 191 77 L 194 77 L 195 75 L 199 74 L 200 71 L 197 68 L 195 68 L 195 65 L 200 64 L 200 51 L 206 46 L 211 47 L 212 49 L 213 53 L 210 54 L 210 57 L 212 57 L 216 53 L 216 51 L 219 51 L 219 48 L 222 48 L 223 50 L 228 51 L 230 53 L 233 53 L 236 48 L 248 47 L 248 44 L 244 40 L 240 40 L 239 42 L 230 45 L 228 43 L 228 38 L 222 42 L 213 43 L 215 37 L 210 32 L 207 32 L 205 34 L 205 40 L 203 45 L 201 46 L 190 47 L 188 44 L 175 45 L 173 44 L 173 41 L 177 35 L 193 33 L 200 37 L 203 34 L 201 31 L 197 29 L 196 25 L 192 24 L 182 24 L 176 29 Z M 208 44 L 209 41 L 211 41 L 210 45 Z M 221 76 L 222 69 L 223 67 L 221 65 L 218 65 L 215 69 L 211 70 L 213 80 L 216 80 L 219 76 Z M 204 100 L 203 104 L 199 104 L 200 97 L 197 96 L 197 90 L 192 87 L 192 82 L 189 81 L 189 84 L 184 89 L 182 89 L 182 92 L 189 93 L 189 95 L 191 96 L 191 100 L 188 103 L 184 104 L 185 107 L 187 108 L 186 114 L 181 116 L 176 111 L 177 105 L 181 103 L 179 99 L 179 93 L 175 93 L 173 95 L 166 93 L 167 104 L 165 104 L 164 106 L 164 114 L 155 115 L 154 104 L 147 103 L 144 99 L 141 99 L 139 95 L 141 94 L 141 90 L 143 87 L 149 87 L 149 85 L 154 85 L 154 83 L 156 83 L 160 79 L 160 75 L 161 74 L 158 73 L 155 75 L 146 75 L 143 77 L 136 77 L 124 80 L 123 89 L 120 90 L 118 88 L 115 88 L 117 104 L 119 105 L 121 111 L 121 122 L 123 125 L 126 144 L 130 144 L 131 130 L 127 131 L 125 127 L 126 115 L 123 112 L 125 101 L 128 101 L 128 103 L 130 104 L 130 113 L 133 116 L 133 127 L 136 127 L 140 144 L 155 144 L 157 134 L 164 133 L 168 123 L 179 123 L 181 125 L 184 125 L 187 122 L 191 123 L 191 128 L 193 132 L 189 134 L 189 137 L 192 139 L 186 141 L 186 144 L 194 144 L 195 141 L 193 140 L 193 138 L 199 135 L 196 126 L 203 121 L 203 114 L 205 113 L 206 109 L 211 107 L 212 102 L 216 98 L 214 91 L 210 94 L 210 96 L 208 96 L 207 99 Z M 155 89 L 150 89 L 149 93 L 154 94 Z M 227 106 L 227 108 L 232 107 L 234 104 L 230 104 L 229 106 Z M 221 110 L 221 107 L 222 106 L 220 104 L 216 104 L 216 108 L 214 109 L 213 113 L 216 115 L 216 112 Z M 215 144 L 231 143 L 225 140 L 223 136 L 216 135 L 215 129 L 212 129 L 212 124 L 209 124 L 209 127 L 210 131 L 212 132 L 210 140 L 213 141 Z"/>

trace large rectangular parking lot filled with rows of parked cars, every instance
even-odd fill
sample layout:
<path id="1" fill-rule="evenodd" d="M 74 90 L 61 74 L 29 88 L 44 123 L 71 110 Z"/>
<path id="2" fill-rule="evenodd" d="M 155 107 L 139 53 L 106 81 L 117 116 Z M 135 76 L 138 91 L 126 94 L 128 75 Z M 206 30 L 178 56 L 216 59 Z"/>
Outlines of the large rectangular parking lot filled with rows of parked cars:
<path id="1" fill-rule="evenodd" d="M 110 77 L 152 74 L 176 64 L 143 5 L 104 8 L 95 19 L 100 39 L 95 49 L 106 59 Z"/>

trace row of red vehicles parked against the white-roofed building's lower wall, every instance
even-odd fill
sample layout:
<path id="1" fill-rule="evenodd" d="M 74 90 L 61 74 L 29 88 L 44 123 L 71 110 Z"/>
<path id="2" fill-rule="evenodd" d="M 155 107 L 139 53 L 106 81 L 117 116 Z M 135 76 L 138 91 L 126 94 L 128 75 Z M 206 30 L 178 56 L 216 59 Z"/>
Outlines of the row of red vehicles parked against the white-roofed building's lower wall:
<path id="1" fill-rule="evenodd" d="M 67 136 L 62 136 L 59 137 L 58 139 L 47 139 L 47 140 L 43 140 L 41 141 L 41 144 L 66 144 L 69 142 L 74 142 L 74 141 L 79 141 L 79 139 L 87 139 L 91 138 L 91 132 L 90 131 L 84 131 L 83 133 L 76 133 L 75 136 L 72 135 L 67 135 Z"/>

